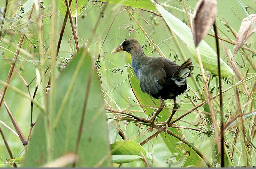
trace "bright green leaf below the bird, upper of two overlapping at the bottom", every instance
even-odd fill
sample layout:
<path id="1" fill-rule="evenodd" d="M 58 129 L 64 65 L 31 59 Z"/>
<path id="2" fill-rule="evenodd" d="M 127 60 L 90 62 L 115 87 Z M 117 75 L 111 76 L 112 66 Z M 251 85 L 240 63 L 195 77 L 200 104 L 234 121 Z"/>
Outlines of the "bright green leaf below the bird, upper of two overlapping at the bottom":
<path id="1" fill-rule="evenodd" d="M 111 144 L 112 155 L 138 155 L 142 157 L 141 152 L 146 156 L 145 149 L 138 143 L 131 140 L 120 140 Z M 141 151 L 141 152 L 140 152 Z"/>

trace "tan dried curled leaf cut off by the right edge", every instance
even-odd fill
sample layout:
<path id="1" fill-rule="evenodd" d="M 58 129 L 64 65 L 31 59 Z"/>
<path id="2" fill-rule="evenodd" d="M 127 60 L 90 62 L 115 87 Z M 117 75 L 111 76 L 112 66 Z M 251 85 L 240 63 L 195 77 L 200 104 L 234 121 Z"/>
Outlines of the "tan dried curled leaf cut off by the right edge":
<path id="1" fill-rule="evenodd" d="M 249 16 L 252 19 L 254 25 L 256 25 L 256 14 L 251 14 Z M 235 54 L 239 50 L 239 48 L 245 43 L 245 41 L 252 35 L 252 33 L 256 31 L 256 29 L 252 25 L 252 22 L 249 20 L 248 17 L 242 20 L 240 29 L 236 35 L 235 49 L 233 54 Z"/>

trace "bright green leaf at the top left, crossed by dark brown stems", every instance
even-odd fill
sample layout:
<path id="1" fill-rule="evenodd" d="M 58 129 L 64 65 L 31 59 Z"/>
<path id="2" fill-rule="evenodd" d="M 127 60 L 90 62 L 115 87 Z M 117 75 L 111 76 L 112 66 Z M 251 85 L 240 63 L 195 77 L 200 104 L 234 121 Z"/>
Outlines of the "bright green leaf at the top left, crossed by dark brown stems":
<path id="1" fill-rule="evenodd" d="M 77 1 L 77 15 L 80 15 L 82 13 L 82 11 L 84 10 L 84 6 L 86 5 L 87 2 L 88 0 Z M 64 0 L 58 0 L 57 8 L 60 11 L 61 15 L 63 16 L 66 15 L 67 7 Z M 75 17 L 76 16 L 76 0 L 73 0 L 71 2 L 70 10 L 71 10 L 72 16 Z"/>

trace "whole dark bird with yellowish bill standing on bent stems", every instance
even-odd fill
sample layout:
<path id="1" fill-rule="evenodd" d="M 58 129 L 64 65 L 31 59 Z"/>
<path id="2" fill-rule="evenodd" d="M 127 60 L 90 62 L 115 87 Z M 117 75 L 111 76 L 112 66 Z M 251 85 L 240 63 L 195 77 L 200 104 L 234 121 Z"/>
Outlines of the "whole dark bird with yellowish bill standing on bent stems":
<path id="1" fill-rule="evenodd" d="M 179 66 L 177 63 L 164 57 L 146 56 L 140 43 L 134 38 L 124 40 L 111 53 L 120 51 L 130 53 L 132 69 L 140 81 L 141 91 L 153 98 L 160 99 L 160 107 L 148 120 L 151 123 L 148 131 L 153 131 L 155 118 L 165 106 L 164 100 L 174 100 L 172 114 L 164 122 L 166 135 L 168 124 L 178 109 L 177 96 L 184 93 L 187 89 L 186 79 L 191 76 L 193 69 L 191 59 L 189 58 Z"/>

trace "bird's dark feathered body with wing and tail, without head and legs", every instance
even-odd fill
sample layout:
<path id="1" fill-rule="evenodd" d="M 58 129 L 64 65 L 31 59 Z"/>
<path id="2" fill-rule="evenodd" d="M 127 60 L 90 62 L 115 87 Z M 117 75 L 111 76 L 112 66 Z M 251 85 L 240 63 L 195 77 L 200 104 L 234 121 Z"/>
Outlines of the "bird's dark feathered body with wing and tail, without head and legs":
<path id="1" fill-rule="evenodd" d="M 187 89 L 186 78 L 190 76 L 191 59 L 181 66 L 163 57 L 147 57 L 135 69 L 143 92 L 154 98 L 175 99 Z"/>

